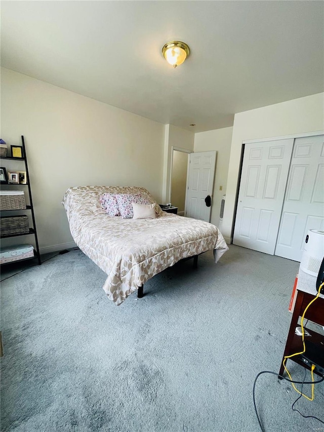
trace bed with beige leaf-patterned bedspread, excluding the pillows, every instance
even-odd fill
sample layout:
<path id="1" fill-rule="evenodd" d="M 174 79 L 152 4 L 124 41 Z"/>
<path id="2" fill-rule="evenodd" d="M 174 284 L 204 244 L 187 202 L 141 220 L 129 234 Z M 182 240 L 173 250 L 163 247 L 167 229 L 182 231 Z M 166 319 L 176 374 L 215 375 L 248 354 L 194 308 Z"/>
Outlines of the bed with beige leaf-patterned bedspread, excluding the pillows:
<path id="1" fill-rule="evenodd" d="M 140 195 L 155 203 L 142 187 L 78 186 L 64 195 L 74 242 L 106 274 L 103 290 L 116 305 L 140 290 L 155 274 L 181 259 L 214 251 L 215 262 L 228 250 L 219 229 L 208 222 L 164 212 L 155 204 L 155 218 L 109 217 L 104 193 Z"/>

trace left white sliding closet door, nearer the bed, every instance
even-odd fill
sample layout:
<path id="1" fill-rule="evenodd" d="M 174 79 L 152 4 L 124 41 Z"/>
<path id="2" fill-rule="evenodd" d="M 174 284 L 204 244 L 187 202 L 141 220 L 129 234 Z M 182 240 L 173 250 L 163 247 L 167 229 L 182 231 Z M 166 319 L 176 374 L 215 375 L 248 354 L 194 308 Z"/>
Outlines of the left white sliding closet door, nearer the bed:
<path id="1" fill-rule="evenodd" d="M 273 255 L 294 139 L 246 144 L 233 244 Z"/>

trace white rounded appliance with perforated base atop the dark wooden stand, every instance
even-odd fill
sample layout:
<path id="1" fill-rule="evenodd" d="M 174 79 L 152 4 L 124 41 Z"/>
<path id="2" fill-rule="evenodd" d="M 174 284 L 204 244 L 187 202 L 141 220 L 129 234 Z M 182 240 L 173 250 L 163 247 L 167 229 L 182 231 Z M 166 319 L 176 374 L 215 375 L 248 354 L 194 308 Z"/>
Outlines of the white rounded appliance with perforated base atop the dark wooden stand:
<path id="1" fill-rule="evenodd" d="M 317 277 L 324 257 L 324 230 L 309 229 L 305 238 L 300 269 Z"/>

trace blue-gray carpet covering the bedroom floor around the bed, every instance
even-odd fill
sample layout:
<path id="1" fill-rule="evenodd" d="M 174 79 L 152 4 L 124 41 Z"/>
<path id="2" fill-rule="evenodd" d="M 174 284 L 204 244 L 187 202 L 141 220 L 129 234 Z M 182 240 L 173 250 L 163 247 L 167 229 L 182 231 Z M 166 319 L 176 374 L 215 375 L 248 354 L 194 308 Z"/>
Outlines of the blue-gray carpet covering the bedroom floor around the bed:
<path id="1" fill-rule="evenodd" d="M 217 265 L 211 252 L 197 270 L 179 263 L 117 307 L 79 250 L 25 269 L 2 283 L 2 431 L 258 431 L 253 382 L 279 370 L 297 270 L 230 246 Z M 323 392 L 296 408 L 324 417 Z M 266 431 L 324 430 L 291 410 L 297 397 L 259 378 Z"/>

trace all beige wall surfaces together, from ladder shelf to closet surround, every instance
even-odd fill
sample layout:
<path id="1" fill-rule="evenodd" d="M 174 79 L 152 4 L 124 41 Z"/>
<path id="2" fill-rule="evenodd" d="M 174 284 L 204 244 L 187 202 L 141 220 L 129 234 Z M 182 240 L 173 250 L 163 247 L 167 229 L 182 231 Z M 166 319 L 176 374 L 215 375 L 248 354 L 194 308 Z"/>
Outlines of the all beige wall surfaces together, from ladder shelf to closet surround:
<path id="1" fill-rule="evenodd" d="M 320 93 L 237 113 L 233 128 L 194 134 L 2 68 L 0 136 L 9 145 L 20 144 L 25 136 L 43 252 L 72 242 L 61 205 L 69 186 L 137 185 L 149 189 L 158 202 L 170 202 L 172 147 L 217 150 L 211 222 L 218 224 L 226 192 L 223 232 L 230 239 L 242 141 L 322 131 L 323 105 Z"/>

